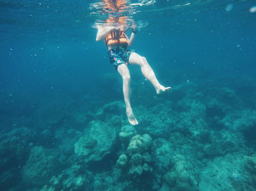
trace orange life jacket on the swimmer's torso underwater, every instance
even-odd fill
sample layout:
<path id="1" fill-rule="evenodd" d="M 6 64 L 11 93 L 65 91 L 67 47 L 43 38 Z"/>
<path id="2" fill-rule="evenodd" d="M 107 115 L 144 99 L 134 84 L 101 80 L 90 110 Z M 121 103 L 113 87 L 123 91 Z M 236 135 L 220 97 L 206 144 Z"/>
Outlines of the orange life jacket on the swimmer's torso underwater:
<path id="1" fill-rule="evenodd" d="M 124 29 L 116 30 L 113 29 L 109 32 L 107 37 L 104 39 L 106 47 L 110 44 L 117 44 L 117 48 L 119 48 L 120 43 L 125 43 L 125 46 L 128 46 L 128 41 L 126 39 Z"/>

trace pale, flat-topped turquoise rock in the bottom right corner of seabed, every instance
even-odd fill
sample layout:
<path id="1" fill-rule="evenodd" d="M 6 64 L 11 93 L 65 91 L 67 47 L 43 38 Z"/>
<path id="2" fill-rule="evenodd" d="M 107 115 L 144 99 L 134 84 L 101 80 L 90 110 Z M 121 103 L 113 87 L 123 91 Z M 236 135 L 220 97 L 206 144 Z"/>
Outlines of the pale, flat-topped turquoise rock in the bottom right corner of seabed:
<path id="1" fill-rule="evenodd" d="M 206 160 L 207 165 L 197 171 L 200 176 L 198 190 L 252 191 L 253 177 L 244 168 L 247 157 L 239 153 L 227 153 Z"/>

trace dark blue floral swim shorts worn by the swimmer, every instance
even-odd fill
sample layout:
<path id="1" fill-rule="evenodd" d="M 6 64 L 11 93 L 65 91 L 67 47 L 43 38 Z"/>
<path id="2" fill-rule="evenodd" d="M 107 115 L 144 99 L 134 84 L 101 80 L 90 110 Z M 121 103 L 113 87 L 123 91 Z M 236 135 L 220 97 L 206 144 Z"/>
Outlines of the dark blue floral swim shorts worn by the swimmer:
<path id="1" fill-rule="evenodd" d="M 108 51 L 108 57 L 110 60 L 110 63 L 113 64 L 115 69 L 117 70 L 118 65 L 120 64 L 126 64 L 128 65 L 129 57 L 131 52 L 135 52 L 134 49 L 127 50 L 123 47 L 113 48 Z"/>

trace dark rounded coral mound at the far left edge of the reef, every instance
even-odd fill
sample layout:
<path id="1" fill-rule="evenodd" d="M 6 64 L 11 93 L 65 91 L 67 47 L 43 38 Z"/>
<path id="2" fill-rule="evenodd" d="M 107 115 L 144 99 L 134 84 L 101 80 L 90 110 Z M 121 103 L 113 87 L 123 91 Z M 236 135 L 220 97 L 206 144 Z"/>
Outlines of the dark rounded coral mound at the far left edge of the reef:
<path id="1" fill-rule="evenodd" d="M 20 166 L 26 163 L 30 149 L 38 140 L 37 132 L 25 127 L 0 134 L 0 187 L 8 188 L 19 178 Z"/>

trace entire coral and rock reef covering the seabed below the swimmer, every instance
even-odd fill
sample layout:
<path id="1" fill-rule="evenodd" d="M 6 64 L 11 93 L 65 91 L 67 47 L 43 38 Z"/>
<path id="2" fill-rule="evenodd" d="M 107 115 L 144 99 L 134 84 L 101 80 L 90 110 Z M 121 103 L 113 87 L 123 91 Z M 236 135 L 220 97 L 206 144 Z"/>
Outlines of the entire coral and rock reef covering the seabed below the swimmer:
<path id="1" fill-rule="evenodd" d="M 37 108 L 31 127 L 21 125 L 27 119 L 10 128 L 1 120 L 3 191 L 256 189 L 256 115 L 248 107 L 255 100 L 245 100 L 242 87 L 188 82 L 153 97 L 138 83 L 154 101 L 139 104 L 145 92 L 135 90 L 136 126 L 129 125 L 123 101 L 105 104 L 84 95 L 88 103 Z"/>

